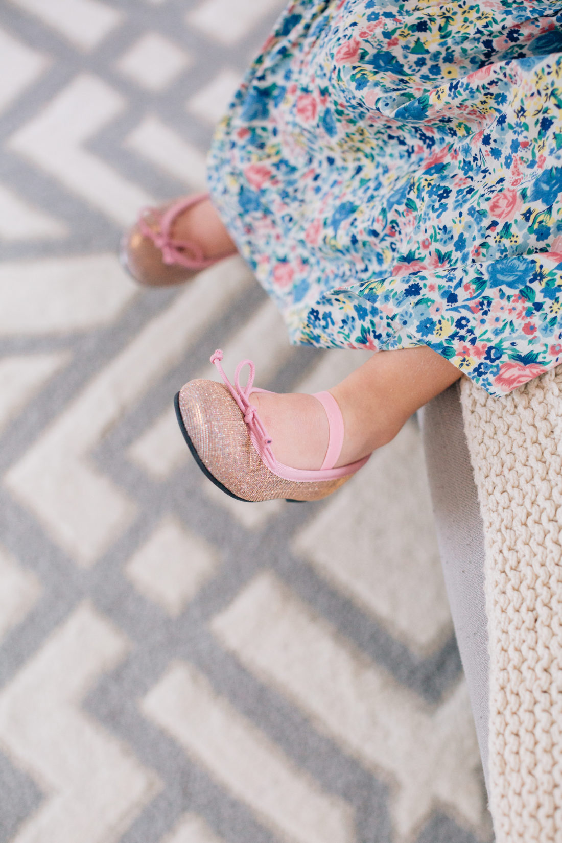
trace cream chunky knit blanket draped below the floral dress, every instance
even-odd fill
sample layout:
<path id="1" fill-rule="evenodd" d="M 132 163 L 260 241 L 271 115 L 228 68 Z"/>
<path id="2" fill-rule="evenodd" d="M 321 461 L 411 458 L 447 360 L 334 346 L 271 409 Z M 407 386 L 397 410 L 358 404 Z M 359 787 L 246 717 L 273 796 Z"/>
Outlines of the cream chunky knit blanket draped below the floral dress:
<path id="1" fill-rule="evenodd" d="M 465 380 L 486 542 L 496 843 L 562 843 L 562 367 L 503 398 Z"/>

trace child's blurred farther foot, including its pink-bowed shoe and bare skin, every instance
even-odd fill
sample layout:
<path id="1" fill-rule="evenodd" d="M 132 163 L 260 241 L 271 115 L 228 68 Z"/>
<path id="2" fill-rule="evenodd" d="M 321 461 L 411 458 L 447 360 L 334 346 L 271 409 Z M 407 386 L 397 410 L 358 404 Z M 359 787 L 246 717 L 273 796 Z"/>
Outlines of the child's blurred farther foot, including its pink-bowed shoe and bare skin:
<path id="1" fill-rule="evenodd" d="M 121 262 L 136 281 L 179 284 L 236 252 L 206 194 L 141 213 L 121 243 Z"/>

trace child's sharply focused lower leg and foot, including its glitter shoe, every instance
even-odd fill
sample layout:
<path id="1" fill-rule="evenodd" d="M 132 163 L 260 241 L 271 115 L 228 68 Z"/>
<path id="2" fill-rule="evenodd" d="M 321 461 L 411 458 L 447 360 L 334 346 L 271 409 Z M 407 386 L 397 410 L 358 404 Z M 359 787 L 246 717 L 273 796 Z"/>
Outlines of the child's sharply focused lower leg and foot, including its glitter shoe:
<path id="1" fill-rule="evenodd" d="M 221 360 L 217 350 L 211 362 L 223 383 L 191 380 L 176 395 L 176 412 L 201 470 L 243 501 L 331 495 L 418 407 L 460 375 L 422 346 L 375 354 L 329 393 L 276 395 L 252 391 L 253 362 L 238 363 L 231 384 Z"/>

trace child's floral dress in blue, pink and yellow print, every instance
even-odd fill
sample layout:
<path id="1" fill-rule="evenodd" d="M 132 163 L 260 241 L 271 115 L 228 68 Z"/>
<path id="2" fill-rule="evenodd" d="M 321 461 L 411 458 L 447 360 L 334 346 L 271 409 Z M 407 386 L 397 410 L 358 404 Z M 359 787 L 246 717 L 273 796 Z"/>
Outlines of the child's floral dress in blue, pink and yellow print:
<path id="1" fill-rule="evenodd" d="M 208 178 L 292 342 L 492 395 L 562 359 L 562 3 L 296 0 Z"/>

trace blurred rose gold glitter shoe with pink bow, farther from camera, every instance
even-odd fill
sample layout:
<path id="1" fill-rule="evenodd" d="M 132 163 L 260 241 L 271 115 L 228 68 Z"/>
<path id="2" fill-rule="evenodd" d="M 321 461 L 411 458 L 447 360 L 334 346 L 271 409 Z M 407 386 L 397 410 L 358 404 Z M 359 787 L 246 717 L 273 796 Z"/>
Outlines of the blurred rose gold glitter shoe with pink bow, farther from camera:
<path id="1" fill-rule="evenodd" d="M 187 208 L 208 198 L 208 193 L 198 193 L 168 205 L 144 208 L 141 211 L 136 224 L 124 234 L 119 252 L 121 266 L 135 281 L 151 287 L 181 284 L 207 266 L 234 254 L 231 251 L 207 259 L 199 244 L 172 237 L 172 227 L 177 217 Z"/>

